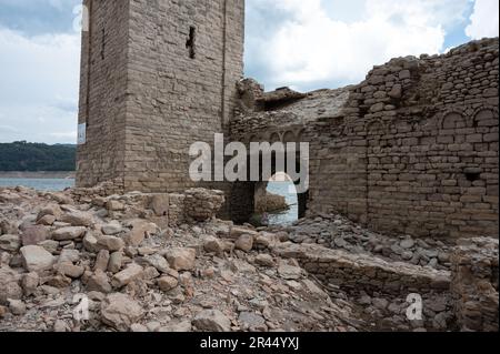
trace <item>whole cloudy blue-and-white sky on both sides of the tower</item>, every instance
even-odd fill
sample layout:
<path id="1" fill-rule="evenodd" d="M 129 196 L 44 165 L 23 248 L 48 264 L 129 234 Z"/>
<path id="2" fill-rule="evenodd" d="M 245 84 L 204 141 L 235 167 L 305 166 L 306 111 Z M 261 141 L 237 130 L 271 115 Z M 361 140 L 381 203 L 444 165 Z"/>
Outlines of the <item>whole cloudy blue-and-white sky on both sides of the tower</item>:
<path id="1" fill-rule="evenodd" d="M 0 142 L 74 143 L 81 0 L 0 0 Z M 308 91 L 499 33 L 499 0 L 247 0 L 246 75 Z"/>

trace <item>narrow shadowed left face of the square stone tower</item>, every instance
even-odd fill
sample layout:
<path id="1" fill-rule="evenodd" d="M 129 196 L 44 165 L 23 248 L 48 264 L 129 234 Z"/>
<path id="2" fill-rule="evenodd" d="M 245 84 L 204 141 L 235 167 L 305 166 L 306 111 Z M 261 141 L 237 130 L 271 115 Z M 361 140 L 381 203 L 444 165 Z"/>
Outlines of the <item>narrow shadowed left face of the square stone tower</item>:
<path id="1" fill-rule="evenodd" d="M 128 65 L 128 1 L 84 0 L 90 28 L 82 33 L 77 184 L 123 185 Z"/>

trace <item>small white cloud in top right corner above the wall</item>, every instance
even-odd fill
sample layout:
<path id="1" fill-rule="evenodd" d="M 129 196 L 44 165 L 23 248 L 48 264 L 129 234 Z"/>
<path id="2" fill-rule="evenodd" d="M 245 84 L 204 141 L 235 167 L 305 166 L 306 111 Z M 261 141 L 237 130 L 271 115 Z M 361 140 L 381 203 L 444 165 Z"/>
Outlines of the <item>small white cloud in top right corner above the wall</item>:
<path id="1" fill-rule="evenodd" d="M 466 33 L 472 39 L 499 36 L 499 0 L 476 0 Z"/>

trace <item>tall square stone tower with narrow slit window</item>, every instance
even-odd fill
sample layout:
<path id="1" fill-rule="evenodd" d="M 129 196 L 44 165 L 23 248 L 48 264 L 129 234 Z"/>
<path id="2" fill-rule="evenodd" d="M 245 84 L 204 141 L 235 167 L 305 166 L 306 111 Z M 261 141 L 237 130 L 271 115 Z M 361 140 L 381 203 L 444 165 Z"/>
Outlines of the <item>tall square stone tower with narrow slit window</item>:
<path id="1" fill-rule="evenodd" d="M 224 132 L 243 71 L 244 0 L 84 0 L 77 185 L 193 185 L 189 146 Z"/>

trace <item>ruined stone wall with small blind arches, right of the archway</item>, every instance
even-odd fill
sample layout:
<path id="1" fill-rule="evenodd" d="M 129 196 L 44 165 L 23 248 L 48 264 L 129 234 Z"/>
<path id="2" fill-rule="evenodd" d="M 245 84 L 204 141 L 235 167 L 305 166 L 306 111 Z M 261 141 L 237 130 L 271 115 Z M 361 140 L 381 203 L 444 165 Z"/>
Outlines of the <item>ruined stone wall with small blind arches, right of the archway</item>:
<path id="1" fill-rule="evenodd" d="M 498 39 L 394 59 L 311 135 L 312 212 L 388 233 L 498 237 Z"/>

